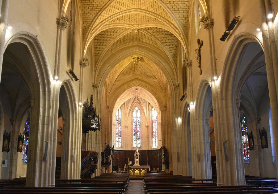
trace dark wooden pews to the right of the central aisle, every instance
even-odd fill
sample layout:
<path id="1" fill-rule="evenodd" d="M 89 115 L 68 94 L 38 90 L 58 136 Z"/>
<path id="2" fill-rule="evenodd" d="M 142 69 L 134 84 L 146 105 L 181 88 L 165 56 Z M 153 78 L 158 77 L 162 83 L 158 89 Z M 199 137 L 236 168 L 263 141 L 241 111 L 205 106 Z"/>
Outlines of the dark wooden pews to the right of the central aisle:
<path id="1" fill-rule="evenodd" d="M 273 187 L 259 184 L 240 186 L 217 186 L 214 179 L 194 179 L 162 173 L 144 175 L 145 193 L 278 193 Z"/>

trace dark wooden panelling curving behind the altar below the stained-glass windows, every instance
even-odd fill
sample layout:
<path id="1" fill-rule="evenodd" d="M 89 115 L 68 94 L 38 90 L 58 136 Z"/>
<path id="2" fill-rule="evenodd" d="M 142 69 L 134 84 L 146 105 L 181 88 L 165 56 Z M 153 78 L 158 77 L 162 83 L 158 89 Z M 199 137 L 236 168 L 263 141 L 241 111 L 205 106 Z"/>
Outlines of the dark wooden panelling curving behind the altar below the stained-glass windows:
<path id="1" fill-rule="evenodd" d="M 114 150 L 114 157 L 112 159 L 112 165 L 118 166 L 118 168 L 123 168 L 125 164 L 129 161 L 134 163 L 134 153 L 135 150 Z M 162 169 L 162 151 L 161 149 L 155 150 L 140 150 L 140 165 L 144 166 L 149 164 L 150 168 Z M 148 154 L 148 157 L 147 157 Z M 147 160 L 148 158 L 148 160 Z"/>

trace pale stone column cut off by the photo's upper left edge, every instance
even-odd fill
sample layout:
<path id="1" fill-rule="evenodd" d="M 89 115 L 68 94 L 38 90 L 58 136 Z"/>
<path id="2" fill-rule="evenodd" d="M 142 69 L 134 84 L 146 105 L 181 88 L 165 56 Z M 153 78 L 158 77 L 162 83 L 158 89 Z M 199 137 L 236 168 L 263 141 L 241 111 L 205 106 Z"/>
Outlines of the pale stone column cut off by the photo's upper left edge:
<path id="1" fill-rule="evenodd" d="M 7 29 L 7 19 L 9 12 L 10 0 L 2 0 L 1 3 L 1 17 L 0 17 L 0 81 L 2 75 L 2 66 L 3 66 L 3 55 L 5 47 L 5 36 Z"/>

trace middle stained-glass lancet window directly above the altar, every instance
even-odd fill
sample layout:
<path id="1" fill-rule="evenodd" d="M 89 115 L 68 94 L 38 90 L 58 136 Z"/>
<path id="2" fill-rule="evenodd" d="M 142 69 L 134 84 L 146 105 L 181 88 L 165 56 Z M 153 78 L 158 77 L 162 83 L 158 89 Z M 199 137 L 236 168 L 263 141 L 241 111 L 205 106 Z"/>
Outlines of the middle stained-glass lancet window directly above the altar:
<path id="1" fill-rule="evenodd" d="M 141 147 L 141 114 L 140 109 L 133 110 L 133 147 Z"/>

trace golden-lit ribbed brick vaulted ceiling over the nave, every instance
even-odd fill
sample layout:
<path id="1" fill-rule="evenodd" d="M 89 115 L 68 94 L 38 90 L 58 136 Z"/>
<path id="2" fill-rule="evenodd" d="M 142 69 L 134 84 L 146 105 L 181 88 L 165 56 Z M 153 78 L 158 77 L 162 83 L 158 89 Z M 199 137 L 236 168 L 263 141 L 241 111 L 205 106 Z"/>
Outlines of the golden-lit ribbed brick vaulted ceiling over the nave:
<path id="1" fill-rule="evenodd" d="M 191 0 L 80 0 L 83 30 L 83 52 L 89 45 L 95 73 L 109 69 L 104 83 L 107 98 L 115 88 L 131 82 L 144 82 L 152 93 L 166 96 L 169 75 L 177 75 L 181 63 L 179 53 L 187 52 L 187 34 Z M 117 64 L 106 64 L 107 58 L 118 59 L 121 49 L 136 45 L 134 53 L 121 56 Z M 158 53 L 167 61 L 162 68 L 161 58 L 141 54 L 138 64 L 131 60 L 141 47 Z M 182 51 L 181 51 L 182 49 Z M 153 52 L 153 53 L 152 53 Z M 110 67 L 109 67 L 110 65 Z M 167 74 L 168 75 L 168 74 Z M 137 81 L 134 81 L 137 80 Z M 124 84 L 125 83 L 125 84 Z M 153 87 L 153 88 L 152 88 Z M 128 88 L 128 87 L 126 87 Z M 119 94 L 117 95 L 119 97 Z M 128 100 L 128 99 L 126 99 Z M 115 100 L 114 100 L 115 101 Z"/>

